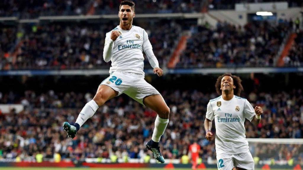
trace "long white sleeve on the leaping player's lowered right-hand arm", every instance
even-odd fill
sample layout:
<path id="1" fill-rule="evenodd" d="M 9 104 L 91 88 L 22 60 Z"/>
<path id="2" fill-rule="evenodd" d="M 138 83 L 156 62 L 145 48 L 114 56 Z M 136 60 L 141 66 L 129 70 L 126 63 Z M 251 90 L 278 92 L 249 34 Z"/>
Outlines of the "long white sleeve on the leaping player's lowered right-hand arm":
<path id="1" fill-rule="evenodd" d="M 148 34 L 147 32 L 143 29 L 143 46 L 142 46 L 143 51 L 145 52 L 149 64 L 151 64 L 152 68 L 159 68 L 159 62 L 154 54 L 154 52 L 152 51 L 152 46 L 151 46 L 151 42 L 148 39 Z"/>

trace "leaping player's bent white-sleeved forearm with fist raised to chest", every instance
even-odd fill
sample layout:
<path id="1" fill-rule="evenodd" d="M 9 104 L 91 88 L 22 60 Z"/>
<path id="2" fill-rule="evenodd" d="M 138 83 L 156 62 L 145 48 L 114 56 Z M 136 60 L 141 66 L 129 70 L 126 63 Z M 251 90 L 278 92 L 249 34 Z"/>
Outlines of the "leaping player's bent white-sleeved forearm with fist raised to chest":
<path id="1" fill-rule="evenodd" d="M 111 33 L 107 33 L 105 37 L 105 44 L 103 49 L 103 59 L 105 62 L 111 60 L 112 51 L 114 48 L 114 41 L 118 38 L 120 33 L 118 31 L 112 31 Z"/>

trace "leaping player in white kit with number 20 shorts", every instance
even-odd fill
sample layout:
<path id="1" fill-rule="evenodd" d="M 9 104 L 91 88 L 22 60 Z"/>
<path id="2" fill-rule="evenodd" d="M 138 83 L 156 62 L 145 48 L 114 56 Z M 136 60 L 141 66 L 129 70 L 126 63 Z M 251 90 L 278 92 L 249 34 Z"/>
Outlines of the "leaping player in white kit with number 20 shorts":
<path id="1" fill-rule="evenodd" d="M 107 100 L 125 93 L 158 113 L 152 138 L 146 143 L 146 148 L 153 152 L 155 159 L 164 163 L 158 143 L 168 124 L 170 109 L 158 90 L 144 80 L 142 52 L 144 51 L 147 55 L 155 74 L 160 77 L 163 71 L 159 68 L 146 31 L 132 25 L 135 17 L 135 3 L 128 0 L 122 1 L 118 14 L 120 25 L 106 34 L 103 51 L 105 62 L 112 61 L 110 76 L 99 85 L 95 97 L 84 106 L 75 124 L 65 122 L 63 127 L 68 137 L 74 138 L 79 128 L 95 114 L 100 106 Z"/>

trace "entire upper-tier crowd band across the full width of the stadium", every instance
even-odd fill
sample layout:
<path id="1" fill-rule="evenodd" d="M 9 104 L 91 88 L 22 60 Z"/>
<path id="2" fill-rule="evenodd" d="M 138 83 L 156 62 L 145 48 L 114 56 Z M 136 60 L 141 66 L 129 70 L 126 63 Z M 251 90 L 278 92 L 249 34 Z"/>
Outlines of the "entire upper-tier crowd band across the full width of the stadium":
<path id="1" fill-rule="evenodd" d="M 275 66 L 282 42 L 295 31 L 297 38 L 285 66 L 301 66 L 302 30 L 299 22 L 251 22 L 241 27 L 218 22 L 216 28 L 178 24 L 175 20 L 139 21 L 145 28 L 160 67 L 167 66 L 180 36 L 188 30 L 185 51 L 176 67 Z M 50 23 L 6 27 L 0 31 L 0 70 L 108 68 L 102 57 L 105 33 L 118 23 Z M 148 60 L 145 60 L 145 65 Z M 147 67 L 148 68 L 148 67 Z"/>

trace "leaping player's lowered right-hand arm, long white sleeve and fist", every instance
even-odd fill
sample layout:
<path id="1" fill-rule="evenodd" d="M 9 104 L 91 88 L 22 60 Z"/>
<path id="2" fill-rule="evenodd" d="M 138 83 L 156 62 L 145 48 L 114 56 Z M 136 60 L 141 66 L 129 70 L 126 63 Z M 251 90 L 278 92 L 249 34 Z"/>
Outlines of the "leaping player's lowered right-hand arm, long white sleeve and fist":
<path id="1" fill-rule="evenodd" d="M 163 75 L 163 70 L 159 67 L 159 62 L 152 51 L 151 43 L 148 39 L 148 34 L 145 30 L 144 31 L 144 37 L 143 37 L 143 51 L 145 52 L 149 64 L 151 64 L 151 67 L 154 69 L 154 73 L 157 74 L 159 77 Z"/>

